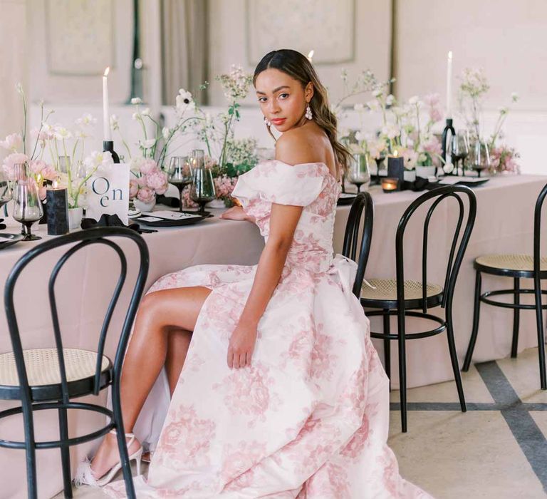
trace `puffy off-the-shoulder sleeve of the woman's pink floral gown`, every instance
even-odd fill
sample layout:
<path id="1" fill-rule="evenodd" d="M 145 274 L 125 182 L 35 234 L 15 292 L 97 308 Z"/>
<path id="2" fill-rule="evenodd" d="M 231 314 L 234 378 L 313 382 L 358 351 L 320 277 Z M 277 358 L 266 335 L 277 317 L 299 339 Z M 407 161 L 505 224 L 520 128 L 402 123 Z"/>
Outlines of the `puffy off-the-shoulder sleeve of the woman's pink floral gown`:
<path id="1" fill-rule="evenodd" d="M 241 175 L 231 195 L 244 209 L 257 198 L 279 205 L 308 206 L 321 193 L 323 180 L 320 163 L 288 165 L 271 160 Z"/>

